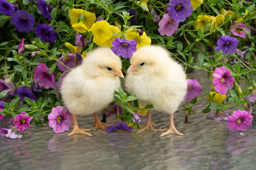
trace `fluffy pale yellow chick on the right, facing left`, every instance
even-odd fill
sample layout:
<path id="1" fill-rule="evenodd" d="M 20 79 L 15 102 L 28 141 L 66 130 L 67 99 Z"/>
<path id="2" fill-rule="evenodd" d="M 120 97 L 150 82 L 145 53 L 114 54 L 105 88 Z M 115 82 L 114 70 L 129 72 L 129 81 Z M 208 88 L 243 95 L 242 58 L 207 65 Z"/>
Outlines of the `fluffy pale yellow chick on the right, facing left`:
<path id="1" fill-rule="evenodd" d="M 138 97 L 140 103 L 153 104 L 157 111 L 165 111 L 170 116 L 170 127 L 160 129 L 166 131 L 161 136 L 175 132 L 183 135 L 173 124 L 173 113 L 179 107 L 186 95 L 186 74 L 182 67 L 170 58 L 170 55 L 160 46 L 144 46 L 135 52 L 131 58 L 131 66 L 125 79 L 127 91 Z M 154 129 L 148 111 L 146 124 L 138 132 Z"/>

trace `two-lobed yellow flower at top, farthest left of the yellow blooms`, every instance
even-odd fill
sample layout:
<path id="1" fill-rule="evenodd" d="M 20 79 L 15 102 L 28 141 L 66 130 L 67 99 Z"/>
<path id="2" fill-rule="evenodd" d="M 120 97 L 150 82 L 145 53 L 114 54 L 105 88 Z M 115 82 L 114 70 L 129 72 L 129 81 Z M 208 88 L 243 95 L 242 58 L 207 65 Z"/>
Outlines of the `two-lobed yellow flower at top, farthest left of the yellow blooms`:
<path id="1" fill-rule="evenodd" d="M 81 9 L 72 9 L 71 11 L 68 11 L 70 16 L 70 24 L 76 24 L 78 22 L 79 17 L 83 14 L 84 24 L 87 27 L 87 29 L 90 29 L 92 27 L 92 24 L 96 20 L 95 13 L 91 13 L 89 11 L 84 11 Z"/>

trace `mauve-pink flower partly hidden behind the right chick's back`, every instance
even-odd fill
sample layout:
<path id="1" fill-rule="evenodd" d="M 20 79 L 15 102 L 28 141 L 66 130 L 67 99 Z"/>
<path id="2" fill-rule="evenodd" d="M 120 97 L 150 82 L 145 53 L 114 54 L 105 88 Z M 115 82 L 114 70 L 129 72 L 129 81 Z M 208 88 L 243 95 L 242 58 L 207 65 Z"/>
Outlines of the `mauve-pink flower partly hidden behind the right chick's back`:
<path id="1" fill-rule="evenodd" d="M 202 86 L 198 83 L 196 79 L 187 79 L 188 81 L 188 90 L 187 94 L 184 97 L 184 101 L 190 101 L 195 99 L 195 97 L 200 96 L 202 93 Z"/>

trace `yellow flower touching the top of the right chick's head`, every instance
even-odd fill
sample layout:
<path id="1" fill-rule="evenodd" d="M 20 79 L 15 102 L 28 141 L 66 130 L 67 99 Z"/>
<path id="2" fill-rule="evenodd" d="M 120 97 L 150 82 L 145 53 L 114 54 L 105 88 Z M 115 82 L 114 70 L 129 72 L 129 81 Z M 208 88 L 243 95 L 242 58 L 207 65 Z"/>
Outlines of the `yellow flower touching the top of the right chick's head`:
<path id="1" fill-rule="evenodd" d="M 125 37 L 127 40 L 135 40 L 138 43 L 136 46 L 137 49 L 141 48 L 141 46 L 151 44 L 151 39 L 147 36 L 145 31 L 140 36 L 138 32 L 133 32 L 132 29 L 128 29 L 127 32 L 125 32 Z"/>

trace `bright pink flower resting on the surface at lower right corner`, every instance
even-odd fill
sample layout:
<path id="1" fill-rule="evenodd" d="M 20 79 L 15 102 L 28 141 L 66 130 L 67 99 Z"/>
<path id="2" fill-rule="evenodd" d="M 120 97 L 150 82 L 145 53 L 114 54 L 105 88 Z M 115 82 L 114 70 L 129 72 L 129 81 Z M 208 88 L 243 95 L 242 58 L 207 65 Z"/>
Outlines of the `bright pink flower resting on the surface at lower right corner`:
<path id="1" fill-rule="evenodd" d="M 247 111 L 237 110 L 228 117 L 227 127 L 230 131 L 246 131 L 252 125 L 252 115 Z"/>

